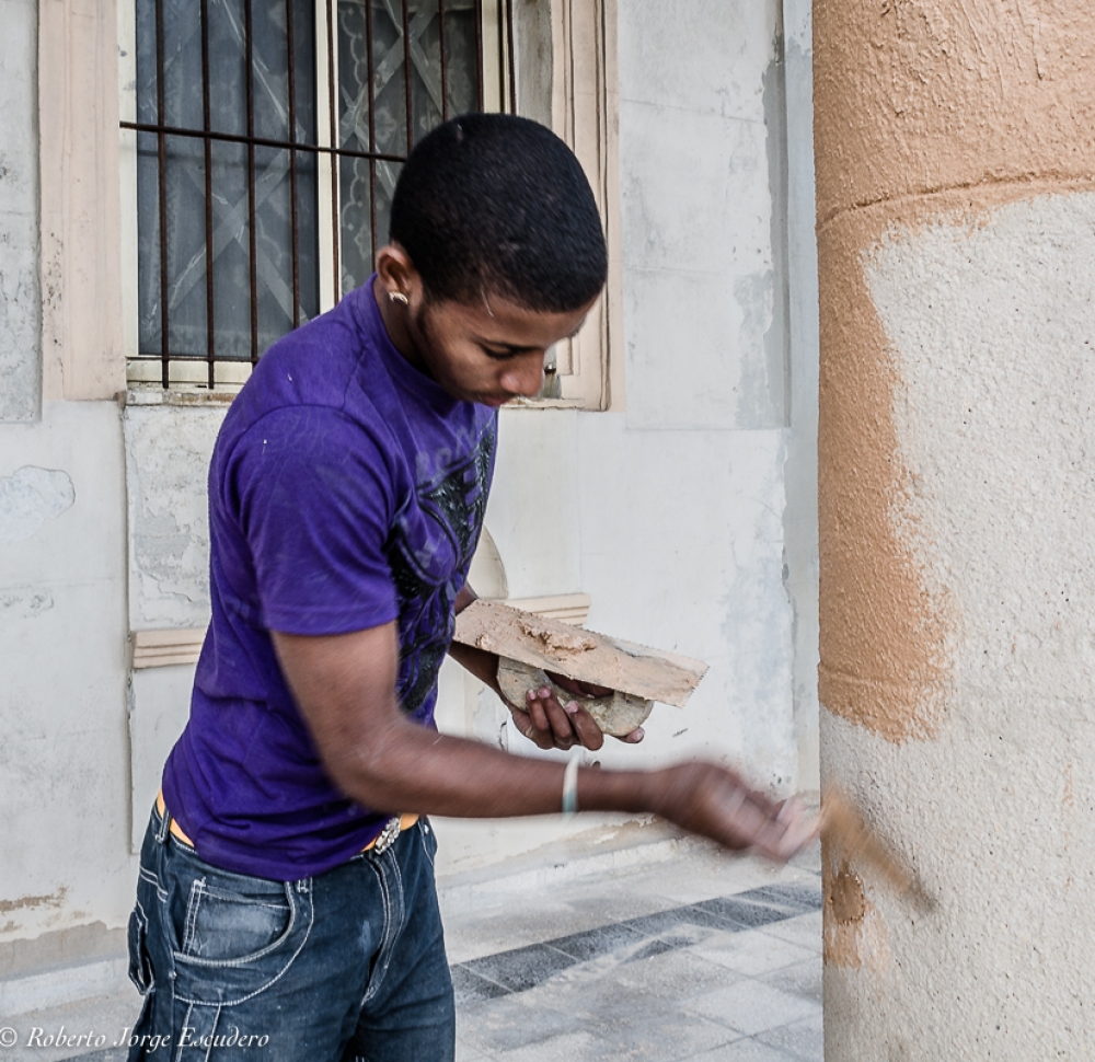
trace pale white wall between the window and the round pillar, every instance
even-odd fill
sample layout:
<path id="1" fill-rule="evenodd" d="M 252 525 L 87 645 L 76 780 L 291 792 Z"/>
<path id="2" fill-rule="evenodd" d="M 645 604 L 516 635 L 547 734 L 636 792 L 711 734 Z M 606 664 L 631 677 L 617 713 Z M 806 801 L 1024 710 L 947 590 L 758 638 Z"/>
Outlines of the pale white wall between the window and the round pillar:
<path id="1" fill-rule="evenodd" d="M 602 762 L 726 758 L 782 792 L 817 787 L 809 4 L 791 7 L 807 140 L 788 182 L 779 4 L 620 5 L 626 409 L 504 413 L 487 510 L 514 597 L 591 593 L 595 630 L 711 665 L 688 707 L 657 707 L 644 744 L 610 740 Z M 498 739 L 495 699 L 456 674 L 442 691 L 442 723 Z M 442 822 L 441 867 L 616 821 Z"/>

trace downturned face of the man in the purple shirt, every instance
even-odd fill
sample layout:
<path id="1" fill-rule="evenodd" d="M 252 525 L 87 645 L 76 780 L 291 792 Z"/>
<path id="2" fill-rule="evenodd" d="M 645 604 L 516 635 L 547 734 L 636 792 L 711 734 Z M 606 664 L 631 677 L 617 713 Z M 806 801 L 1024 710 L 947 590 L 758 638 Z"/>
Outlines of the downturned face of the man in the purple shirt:
<path id="1" fill-rule="evenodd" d="M 471 305 L 419 303 L 407 322 L 414 360 L 454 399 L 499 406 L 532 397 L 544 353 L 573 336 L 596 301 L 567 313 L 526 310 L 497 295 Z"/>

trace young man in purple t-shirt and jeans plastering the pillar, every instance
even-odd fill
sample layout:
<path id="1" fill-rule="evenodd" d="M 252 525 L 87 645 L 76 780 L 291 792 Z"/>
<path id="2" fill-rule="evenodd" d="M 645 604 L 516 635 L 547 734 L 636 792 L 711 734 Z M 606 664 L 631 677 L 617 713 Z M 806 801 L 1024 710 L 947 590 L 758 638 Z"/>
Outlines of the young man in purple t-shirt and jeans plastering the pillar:
<path id="1" fill-rule="evenodd" d="M 425 815 L 558 811 L 564 769 L 439 736 L 437 672 L 450 651 L 497 689 L 496 658 L 450 646 L 496 407 L 535 394 L 604 276 L 563 142 L 457 118 L 406 163 L 377 274 L 276 344 L 232 404 L 209 475 L 212 622 L 130 923 L 146 993 L 130 1059 L 452 1059 Z M 510 711 L 541 747 L 602 741 L 548 691 Z M 567 778 L 568 804 L 728 847 L 786 857 L 807 840 L 714 764 Z"/>

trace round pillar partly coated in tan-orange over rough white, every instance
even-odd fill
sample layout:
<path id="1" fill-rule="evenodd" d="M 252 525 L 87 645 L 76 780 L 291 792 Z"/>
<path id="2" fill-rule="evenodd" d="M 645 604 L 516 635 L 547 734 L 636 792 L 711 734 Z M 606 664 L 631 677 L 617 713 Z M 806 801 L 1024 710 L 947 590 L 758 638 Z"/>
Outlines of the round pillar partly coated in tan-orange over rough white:
<path id="1" fill-rule="evenodd" d="M 826 1057 L 1095 1050 L 1095 18 L 815 0 Z"/>

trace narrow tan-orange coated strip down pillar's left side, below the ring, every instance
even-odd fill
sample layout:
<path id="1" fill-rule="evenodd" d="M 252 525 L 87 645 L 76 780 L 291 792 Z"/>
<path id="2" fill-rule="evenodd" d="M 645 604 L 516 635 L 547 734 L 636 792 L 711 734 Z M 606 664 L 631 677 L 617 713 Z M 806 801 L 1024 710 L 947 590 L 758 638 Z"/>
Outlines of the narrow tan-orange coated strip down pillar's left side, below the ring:
<path id="1" fill-rule="evenodd" d="M 876 220 L 844 216 L 818 234 L 818 692 L 830 712 L 900 742 L 938 728 L 947 639 L 945 602 L 899 521 L 912 489 L 892 416 L 900 378 L 860 255 L 880 235 Z"/>

